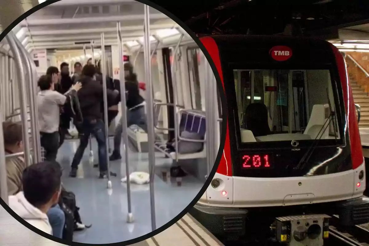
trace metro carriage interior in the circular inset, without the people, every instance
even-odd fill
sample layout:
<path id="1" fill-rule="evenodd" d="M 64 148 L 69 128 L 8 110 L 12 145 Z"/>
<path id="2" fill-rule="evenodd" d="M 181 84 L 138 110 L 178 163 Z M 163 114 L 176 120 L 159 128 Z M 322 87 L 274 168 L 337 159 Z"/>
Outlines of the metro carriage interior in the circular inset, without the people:
<path id="1" fill-rule="evenodd" d="M 94 165 L 98 162 L 98 151 L 94 138 L 90 138 L 90 149 L 84 153 L 77 178 L 68 177 L 79 145 L 73 124 L 57 156 L 63 168 L 63 185 L 76 194 L 83 222 L 92 224 L 89 229 L 75 232 L 73 241 L 121 242 L 155 229 L 152 221 L 150 223 L 152 213 L 156 228 L 166 224 L 199 193 L 218 152 L 221 105 L 215 77 L 204 54 L 189 34 L 169 17 L 148 8 L 151 44 L 150 54 L 145 56 L 144 4 L 135 1 L 121 4 L 101 1 L 94 5 L 82 2 L 63 0 L 42 8 L 17 25 L 0 43 L 0 119 L 23 121 L 29 129 L 28 135 L 24 135 L 24 139 L 29 140 L 25 151 L 5 158 L 31 153 L 29 164 L 37 162 L 39 157 L 42 160 L 42 148 L 38 149 L 39 143 L 35 140 L 38 137 L 35 96 L 37 78 L 44 75 L 49 66 L 60 69 L 61 63 L 66 62 L 72 76 L 76 62 L 85 65 L 89 59 L 96 63 L 103 60 L 106 75 L 120 79 L 121 63 L 132 63 L 138 81 L 146 83 L 147 87 L 148 83 L 152 85 L 154 100 L 151 103 L 148 103 L 149 92 L 141 93 L 146 99 L 145 110 L 148 105 L 153 106 L 154 119 L 148 124 L 154 124 L 161 140 L 155 145 L 155 159 L 151 160 L 148 155 L 149 148 L 154 148 L 148 144 L 148 134 L 137 125 L 126 131 L 129 141 L 121 145 L 122 159 L 110 162 L 110 171 L 117 174 L 111 177 L 112 189 L 107 189 L 106 181 L 97 179 L 98 169 Z M 146 81 L 147 57 L 150 58 L 147 63 L 151 66 L 151 82 Z M 24 74 L 20 75 L 20 71 Z M 110 150 L 121 117 L 119 111 L 109 128 Z M 24 122 L 25 117 L 27 122 Z M 208 131 L 212 132 L 211 136 Z M 173 150 L 163 151 L 161 146 L 170 138 L 174 139 Z M 125 148 L 128 148 L 128 164 Z M 121 180 L 126 177 L 126 164 L 131 174 L 149 173 L 150 165 L 154 165 L 155 175 L 150 184 L 132 183 L 128 187 Z M 176 170 L 184 173 L 178 174 Z M 150 191 L 151 185 L 154 190 Z M 131 199 L 127 198 L 128 190 Z M 155 194 L 154 208 L 150 203 L 151 192 Z M 130 202 L 133 223 L 127 222 Z"/>

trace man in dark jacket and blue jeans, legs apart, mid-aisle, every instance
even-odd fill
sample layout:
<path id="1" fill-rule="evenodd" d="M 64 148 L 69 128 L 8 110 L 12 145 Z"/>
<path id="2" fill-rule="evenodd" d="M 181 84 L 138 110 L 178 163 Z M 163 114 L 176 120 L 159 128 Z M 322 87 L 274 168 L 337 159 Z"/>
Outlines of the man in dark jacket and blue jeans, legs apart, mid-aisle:
<path id="1" fill-rule="evenodd" d="M 82 136 L 80 137 L 80 143 L 72 161 L 72 170 L 70 171 L 70 177 L 77 176 L 78 165 L 82 159 L 83 153 L 89 144 L 90 134 L 93 134 L 96 138 L 99 148 L 99 168 L 100 179 L 103 179 L 107 175 L 107 151 L 106 151 L 106 138 L 105 125 L 103 121 L 103 114 L 101 113 L 101 102 L 103 102 L 103 86 L 93 79 L 96 74 L 96 68 L 94 65 L 86 65 L 82 70 L 82 77 L 80 82 L 82 83 L 82 89 L 78 91 L 78 97 L 80 98 L 80 109 L 83 115 L 82 123 Z M 108 105 L 114 104 L 118 98 L 118 93 L 107 90 Z"/>

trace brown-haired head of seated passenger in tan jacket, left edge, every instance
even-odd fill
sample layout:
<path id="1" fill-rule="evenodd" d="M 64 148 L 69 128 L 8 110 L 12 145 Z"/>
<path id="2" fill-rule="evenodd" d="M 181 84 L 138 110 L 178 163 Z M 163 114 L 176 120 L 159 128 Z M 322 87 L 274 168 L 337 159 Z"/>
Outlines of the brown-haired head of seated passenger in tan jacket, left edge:
<path id="1" fill-rule="evenodd" d="M 21 122 L 3 122 L 4 146 L 13 153 L 23 151 L 23 136 Z"/>

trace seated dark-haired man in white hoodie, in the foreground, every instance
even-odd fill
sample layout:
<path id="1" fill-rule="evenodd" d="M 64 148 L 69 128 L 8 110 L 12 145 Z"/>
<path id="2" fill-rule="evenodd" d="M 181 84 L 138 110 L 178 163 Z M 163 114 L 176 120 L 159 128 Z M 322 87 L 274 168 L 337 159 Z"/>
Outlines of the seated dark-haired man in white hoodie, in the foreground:
<path id="1" fill-rule="evenodd" d="M 58 163 L 41 162 L 23 171 L 23 191 L 9 196 L 9 207 L 35 228 L 52 235 L 47 216 L 59 201 L 62 171 Z"/>

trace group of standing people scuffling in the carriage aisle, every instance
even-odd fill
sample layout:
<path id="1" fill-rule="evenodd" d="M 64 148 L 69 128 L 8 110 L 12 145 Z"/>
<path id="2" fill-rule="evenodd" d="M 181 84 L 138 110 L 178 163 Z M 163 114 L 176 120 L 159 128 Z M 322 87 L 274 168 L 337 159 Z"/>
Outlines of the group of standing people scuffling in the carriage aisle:
<path id="1" fill-rule="evenodd" d="M 80 136 L 80 144 L 72 160 L 70 177 L 76 177 L 78 165 L 83 153 L 89 144 L 90 135 L 96 138 L 99 153 L 100 178 L 107 176 L 106 134 L 104 125 L 104 101 L 103 78 L 97 66 L 87 64 L 83 68 L 80 63 L 75 63 L 75 74 L 69 77 L 69 65 L 61 64 L 61 74 L 57 67 L 49 67 L 46 75 L 41 76 L 38 84 L 41 89 L 37 96 L 38 115 L 41 134 L 41 146 L 45 149 L 45 159 L 56 160 L 59 147 L 63 144 L 65 135 L 68 134 L 70 121 L 73 118 L 73 106 L 69 104 L 73 97 L 77 96 L 82 119 L 73 118 Z M 125 94 L 127 106 L 128 127 L 136 124 L 147 132 L 145 115 L 145 100 L 139 93 L 140 83 L 133 72 L 131 63 L 124 64 Z M 141 83 L 142 84 L 142 83 Z M 108 125 L 118 115 L 118 104 L 121 101 L 120 81 L 106 76 L 106 91 L 108 105 Z M 141 86 L 142 88 L 142 86 Z M 68 106 L 67 106 L 68 105 Z M 59 108 L 61 110 L 59 111 Z M 59 113 L 59 117 L 57 114 Z M 117 125 L 114 136 L 114 150 L 110 160 L 121 159 L 121 135 L 123 129 Z"/>

